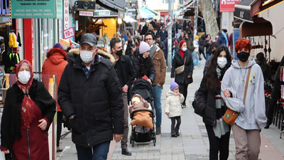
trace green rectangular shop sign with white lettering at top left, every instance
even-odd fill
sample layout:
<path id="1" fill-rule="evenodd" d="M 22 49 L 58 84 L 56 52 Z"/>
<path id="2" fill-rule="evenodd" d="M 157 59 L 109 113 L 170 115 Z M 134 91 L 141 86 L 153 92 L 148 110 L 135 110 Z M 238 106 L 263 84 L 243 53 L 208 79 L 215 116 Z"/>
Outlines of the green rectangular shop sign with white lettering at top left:
<path id="1" fill-rule="evenodd" d="M 12 18 L 55 18 L 55 0 L 15 0 Z"/>

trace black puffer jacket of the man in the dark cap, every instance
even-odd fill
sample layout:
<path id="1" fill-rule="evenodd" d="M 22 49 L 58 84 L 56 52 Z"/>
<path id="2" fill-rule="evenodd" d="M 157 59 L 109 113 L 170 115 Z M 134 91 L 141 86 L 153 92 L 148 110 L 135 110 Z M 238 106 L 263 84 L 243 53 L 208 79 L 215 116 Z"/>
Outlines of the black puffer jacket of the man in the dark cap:
<path id="1" fill-rule="evenodd" d="M 113 134 L 124 133 L 124 104 L 114 65 L 98 54 L 91 65 L 89 78 L 77 56 L 70 62 L 58 87 L 58 103 L 70 121 L 72 142 L 95 146 L 113 139 Z"/>

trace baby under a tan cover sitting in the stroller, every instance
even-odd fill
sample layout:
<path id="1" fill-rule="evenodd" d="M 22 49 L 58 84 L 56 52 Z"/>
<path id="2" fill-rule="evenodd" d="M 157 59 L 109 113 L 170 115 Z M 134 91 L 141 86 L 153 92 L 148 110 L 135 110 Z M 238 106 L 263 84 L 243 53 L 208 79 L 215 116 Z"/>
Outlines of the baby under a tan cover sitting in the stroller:
<path id="1" fill-rule="evenodd" d="M 141 95 L 134 95 L 132 97 L 132 105 L 129 106 L 129 113 L 132 114 L 134 110 L 141 110 L 139 112 L 135 112 L 133 114 L 133 118 L 131 120 L 131 125 L 138 125 L 138 126 L 144 126 L 148 127 L 150 129 L 153 128 L 153 122 L 151 117 L 151 112 L 147 112 L 146 110 L 152 110 L 151 106 L 149 107 L 149 104 L 146 100 L 144 100 Z"/>

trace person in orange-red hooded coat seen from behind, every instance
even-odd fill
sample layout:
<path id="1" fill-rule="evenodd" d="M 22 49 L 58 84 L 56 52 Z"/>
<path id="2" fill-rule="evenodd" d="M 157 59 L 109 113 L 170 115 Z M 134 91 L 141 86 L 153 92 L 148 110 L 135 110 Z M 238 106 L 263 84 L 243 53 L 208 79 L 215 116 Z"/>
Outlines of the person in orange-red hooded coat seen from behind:
<path id="1" fill-rule="evenodd" d="M 62 49 L 60 43 L 56 43 L 53 48 L 48 50 L 46 54 L 47 59 L 43 63 L 43 80 L 45 79 L 45 87 L 48 87 L 48 79 L 50 75 L 57 75 L 57 87 L 59 85 L 61 75 L 65 69 L 65 66 L 68 64 L 67 62 L 67 53 L 65 50 Z M 58 97 L 58 96 L 57 96 Z M 62 148 L 59 146 L 61 130 L 62 130 L 62 110 L 60 110 L 60 106 L 56 103 L 58 107 L 58 127 L 57 127 L 57 139 L 56 139 L 56 146 L 57 151 L 62 151 Z"/>

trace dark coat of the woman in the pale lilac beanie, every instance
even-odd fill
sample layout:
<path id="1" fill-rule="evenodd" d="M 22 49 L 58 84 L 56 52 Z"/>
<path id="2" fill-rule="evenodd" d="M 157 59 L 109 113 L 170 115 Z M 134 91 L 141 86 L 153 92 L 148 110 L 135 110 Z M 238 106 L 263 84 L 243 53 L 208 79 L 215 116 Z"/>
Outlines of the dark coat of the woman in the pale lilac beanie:
<path id="1" fill-rule="evenodd" d="M 136 53 L 137 53 L 137 51 L 138 50 L 136 50 Z M 134 52 L 134 54 L 136 54 L 136 53 Z M 154 65 L 152 59 L 151 59 L 152 65 L 150 66 L 150 68 L 148 68 L 147 72 L 143 73 L 143 74 L 139 73 L 139 69 L 140 69 L 139 65 L 140 65 L 140 63 L 143 63 L 143 59 L 141 57 L 139 57 L 138 55 L 137 56 L 133 55 L 133 56 L 131 56 L 131 60 L 133 62 L 133 66 L 136 70 L 136 78 L 143 78 L 143 76 L 146 75 L 151 80 L 151 82 L 154 82 L 154 80 L 155 80 L 155 65 Z"/>

